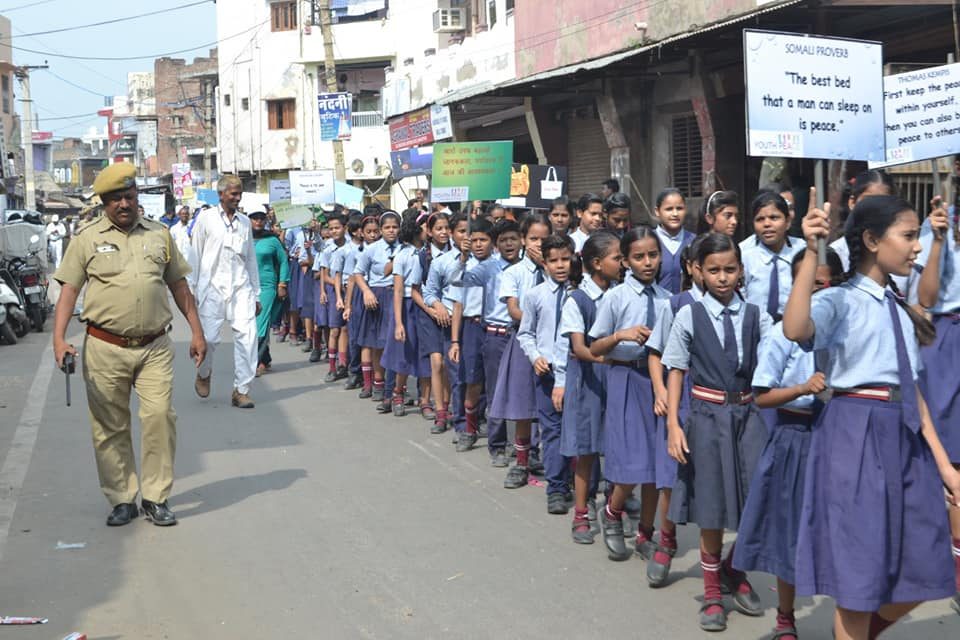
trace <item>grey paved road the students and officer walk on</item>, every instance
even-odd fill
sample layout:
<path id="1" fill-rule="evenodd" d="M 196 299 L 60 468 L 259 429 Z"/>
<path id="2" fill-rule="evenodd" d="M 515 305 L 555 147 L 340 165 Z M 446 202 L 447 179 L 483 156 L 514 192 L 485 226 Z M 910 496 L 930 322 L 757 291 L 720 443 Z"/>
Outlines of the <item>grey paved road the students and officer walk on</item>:
<path id="1" fill-rule="evenodd" d="M 640 560 L 574 545 L 542 489 L 504 490 L 485 449 L 456 454 L 417 416 L 378 417 L 286 345 L 254 411 L 229 406 L 229 348 L 200 401 L 182 324 L 174 338 L 181 521 L 168 529 L 104 526 L 85 398 L 75 381 L 64 406 L 49 333 L 0 347 L 0 615 L 50 619 L 5 637 L 705 636 L 692 531 L 671 584 L 653 591 Z M 754 584 L 775 606 L 773 583 Z M 801 605 L 804 639 L 829 638 L 832 606 Z M 772 624 L 734 613 L 726 637 L 764 638 Z M 957 638 L 960 616 L 927 604 L 884 637 Z"/>

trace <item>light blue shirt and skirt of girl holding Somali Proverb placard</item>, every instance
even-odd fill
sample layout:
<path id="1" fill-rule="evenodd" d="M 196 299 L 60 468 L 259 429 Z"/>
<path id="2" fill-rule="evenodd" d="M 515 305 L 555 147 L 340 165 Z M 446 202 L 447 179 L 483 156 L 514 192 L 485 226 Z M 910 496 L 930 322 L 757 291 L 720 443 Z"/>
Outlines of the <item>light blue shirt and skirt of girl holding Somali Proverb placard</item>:
<path id="1" fill-rule="evenodd" d="M 856 274 L 813 297 L 812 346 L 830 355 L 828 386 L 900 385 L 892 296 L 889 288 Z M 893 308 L 901 336 L 912 338 L 909 316 L 899 305 Z M 921 366 L 917 341 L 901 340 L 915 379 Z M 901 402 L 834 392 L 810 444 L 797 542 L 798 595 L 829 595 L 844 609 L 876 611 L 887 603 L 954 593 L 941 479 L 918 430 L 919 424 L 904 425 Z"/>

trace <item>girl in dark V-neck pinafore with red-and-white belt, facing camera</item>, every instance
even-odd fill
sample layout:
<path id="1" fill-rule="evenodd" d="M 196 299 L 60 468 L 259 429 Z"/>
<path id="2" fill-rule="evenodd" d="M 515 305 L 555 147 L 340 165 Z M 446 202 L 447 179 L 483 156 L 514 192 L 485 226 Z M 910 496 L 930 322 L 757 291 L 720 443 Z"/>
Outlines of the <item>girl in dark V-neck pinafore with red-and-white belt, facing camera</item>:
<path id="1" fill-rule="evenodd" d="M 736 531 L 750 481 L 767 441 L 767 427 L 753 402 L 751 383 L 761 339 L 772 320 L 736 293 L 742 274 L 732 238 L 711 232 L 697 240 L 693 256 L 703 276 L 703 299 L 681 308 L 661 361 L 668 374 L 667 446 L 680 464 L 668 517 L 700 529 L 703 606 L 700 628 L 723 631 L 723 589 L 737 609 L 758 616 L 763 606 L 745 573 L 723 558 L 723 531 Z M 679 419 L 679 394 L 692 378 L 690 412 Z M 675 395 L 676 394 L 676 395 Z"/>

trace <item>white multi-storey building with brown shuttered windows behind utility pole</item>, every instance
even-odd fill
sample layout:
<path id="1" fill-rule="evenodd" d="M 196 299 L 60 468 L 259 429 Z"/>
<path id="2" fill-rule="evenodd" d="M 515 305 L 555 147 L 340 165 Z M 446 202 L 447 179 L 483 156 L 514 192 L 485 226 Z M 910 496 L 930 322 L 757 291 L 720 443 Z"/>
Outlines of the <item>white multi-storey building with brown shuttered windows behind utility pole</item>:
<path id="1" fill-rule="evenodd" d="M 395 63 L 392 11 L 386 0 L 332 4 L 337 90 L 352 96 L 346 179 L 375 192 L 388 180 L 389 134 L 380 104 L 385 70 Z M 248 189 L 266 191 L 271 179 L 291 169 L 334 166 L 333 145 L 320 141 L 317 96 L 327 88 L 318 5 L 217 4 L 218 160 Z"/>

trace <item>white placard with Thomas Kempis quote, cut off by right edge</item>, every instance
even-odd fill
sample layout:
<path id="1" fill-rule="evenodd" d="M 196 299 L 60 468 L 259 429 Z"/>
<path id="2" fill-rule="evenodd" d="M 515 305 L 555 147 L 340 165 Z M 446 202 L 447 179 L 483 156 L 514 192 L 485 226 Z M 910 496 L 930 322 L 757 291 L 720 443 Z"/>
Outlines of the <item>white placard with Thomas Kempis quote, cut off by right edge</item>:
<path id="1" fill-rule="evenodd" d="M 960 63 L 883 79 L 887 157 L 884 167 L 960 153 Z"/>

